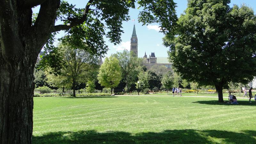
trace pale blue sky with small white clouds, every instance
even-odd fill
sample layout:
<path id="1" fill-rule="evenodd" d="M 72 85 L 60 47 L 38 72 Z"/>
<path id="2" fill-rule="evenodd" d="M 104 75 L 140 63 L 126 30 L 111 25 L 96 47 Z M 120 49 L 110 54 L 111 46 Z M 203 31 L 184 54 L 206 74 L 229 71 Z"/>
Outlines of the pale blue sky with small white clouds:
<path id="1" fill-rule="evenodd" d="M 75 4 L 76 7 L 84 8 L 85 4 L 87 2 L 83 0 L 67 0 L 70 4 Z M 184 10 L 187 8 L 187 0 L 174 0 L 175 3 L 177 3 L 176 7 L 176 13 L 178 17 L 181 13 L 184 12 Z M 230 6 L 233 4 L 241 5 L 246 4 L 249 7 L 252 7 L 254 10 L 254 13 L 256 11 L 256 1 L 255 0 L 231 0 Z M 35 8 L 34 12 L 38 12 L 38 7 Z M 122 34 L 121 44 L 114 45 L 108 42 L 108 39 L 105 39 L 106 44 L 109 47 L 109 50 L 105 56 L 110 56 L 112 53 L 122 52 L 124 49 L 130 50 L 130 38 L 132 36 L 132 29 L 133 29 L 133 19 L 135 20 L 135 27 L 136 27 L 136 34 L 138 37 L 138 57 L 143 57 L 144 53 L 146 52 L 147 55 L 149 55 L 151 52 L 155 52 L 156 57 L 167 57 L 167 50 L 168 48 L 164 47 L 162 45 L 162 38 L 164 35 L 160 32 L 158 32 L 158 24 L 150 24 L 148 26 L 142 26 L 141 23 L 138 23 L 137 17 L 140 12 L 140 9 L 131 9 L 130 10 L 130 17 L 131 20 L 127 22 L 123 22 L 123 31 L 124 34 Z M 61 37 L 63 32 L 60 32 L 60 34 L 57 37 Z"/>

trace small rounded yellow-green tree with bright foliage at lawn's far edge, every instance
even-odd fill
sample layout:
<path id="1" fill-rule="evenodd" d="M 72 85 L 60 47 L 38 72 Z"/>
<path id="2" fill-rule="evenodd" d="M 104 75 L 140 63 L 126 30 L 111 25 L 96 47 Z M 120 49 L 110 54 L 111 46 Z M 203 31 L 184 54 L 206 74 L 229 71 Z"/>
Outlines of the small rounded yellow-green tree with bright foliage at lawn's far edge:
<path id="1" fill-rule="evenodd" d="M 104 63 L 101 65 L 98 80 L 101 86 L 111 88 L 111 94 L 113 88 L 116 87 L 120 80 L 122 79 L 121 67 L 119 66 L 119 61 L 115 57 L 109 57 L 105 59 Z"/>

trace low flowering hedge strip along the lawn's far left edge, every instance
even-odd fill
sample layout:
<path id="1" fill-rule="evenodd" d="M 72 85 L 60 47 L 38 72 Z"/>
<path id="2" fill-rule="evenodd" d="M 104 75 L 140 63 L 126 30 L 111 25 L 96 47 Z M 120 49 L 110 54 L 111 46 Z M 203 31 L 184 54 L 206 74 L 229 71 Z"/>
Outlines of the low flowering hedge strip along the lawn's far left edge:
<path id="1" fill-rule="evenodd" d="M 70 93 L 34 93 L 34 97 L 70 97 L 73 94 Z M 109 93 L 81 93 L 76 94 L 77 97 L 97 97 L 97 96 L 111 96 Z"/>

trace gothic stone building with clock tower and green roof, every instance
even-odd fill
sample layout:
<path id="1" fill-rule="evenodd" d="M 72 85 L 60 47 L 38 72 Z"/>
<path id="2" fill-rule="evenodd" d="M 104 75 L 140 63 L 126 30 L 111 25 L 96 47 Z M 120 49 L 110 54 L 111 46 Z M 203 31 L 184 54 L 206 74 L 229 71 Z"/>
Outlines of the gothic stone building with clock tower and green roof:
<path id="1" fill-rule="evenodd" d="M 136 35 L 135 25 L 133 25 L 130 51 L 134 52 L 136 54 L 136 56 L 138 57 L 138 38 Z M 147 67 L 147 69 L 150 69 L 154 65 L 159 65 L 159 66 L 163 65 L 169 70 L 172 69 L 172 63 L 170 63 L 168 61 L 168 58 L 167 57 L 156 57 L 155 52 L 151 52 L 149 57 L 145 52 L 145 55 L 143 57 L 143 64 Z"/>

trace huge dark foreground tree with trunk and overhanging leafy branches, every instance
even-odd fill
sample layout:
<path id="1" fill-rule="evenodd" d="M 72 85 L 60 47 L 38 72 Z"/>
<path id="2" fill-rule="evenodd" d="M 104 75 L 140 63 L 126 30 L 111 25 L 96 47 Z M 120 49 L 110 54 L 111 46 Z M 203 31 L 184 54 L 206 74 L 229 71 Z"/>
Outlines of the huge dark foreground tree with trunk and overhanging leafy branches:
<path id="1" fill-rule="evenodd" d="M 169 24 L 177 19 L 173 0 L 138 3 L 143 7 L 140 22 L 159 23 L 164 34 L 172 31 Z M 36 15 L 32 8 L 39 5 Z M 135 0 L 87 0 L 83 9 L 61 0 L 0 0 L 1 144 L 31 143 L 33 71 L 42 47 L 46 44 L 45 50 L 51 52 L 53 36 L 63 30 L 69 34 L 64 41 L 85 43 L 87 52 L 104 54 L 108 50 L 104 36 L 114 44 L 121 42 L 122 22 L 129 20 L 130 8 L 135 8 Z"/>

